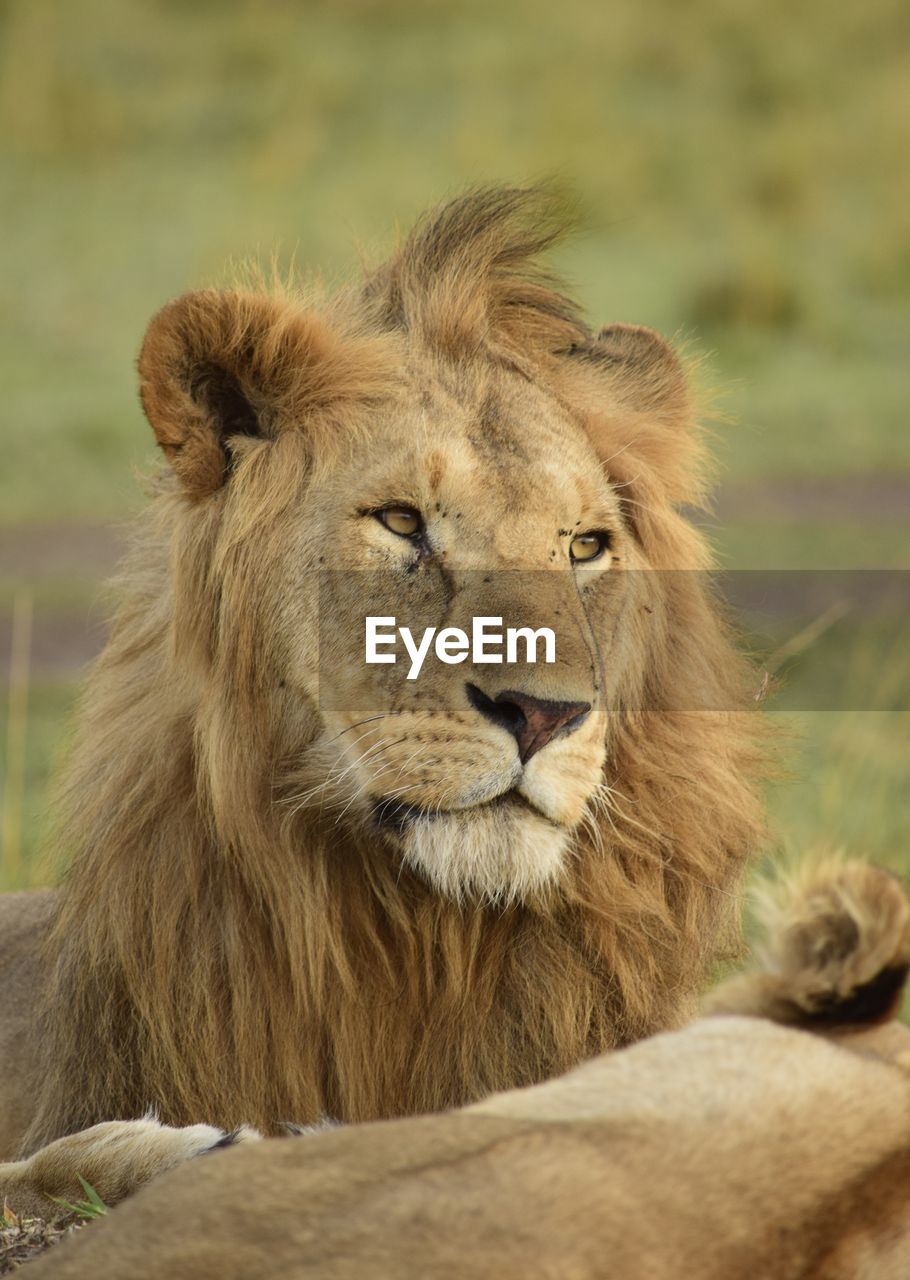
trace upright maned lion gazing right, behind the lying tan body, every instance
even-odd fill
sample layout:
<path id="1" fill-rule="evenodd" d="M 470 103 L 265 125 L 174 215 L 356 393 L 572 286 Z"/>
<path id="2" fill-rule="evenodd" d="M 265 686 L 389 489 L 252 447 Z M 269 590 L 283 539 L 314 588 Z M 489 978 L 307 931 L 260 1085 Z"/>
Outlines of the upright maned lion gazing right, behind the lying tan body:
<path id="1" fill-rule="evenodd" d="M 472 191 L 334 294 L 151 321 L 166 465 L 69 868 L 3 906 L 0 1151 L 462 1106 L 683 1024 L 736 952 L 765 753 L 683 509 L 703 431 L 672 348 L 543 270 L 562 230 L 545 192 Z M 353 660 L 367 596 L 555 620 L 558 662 L 395 685 Z"/>

